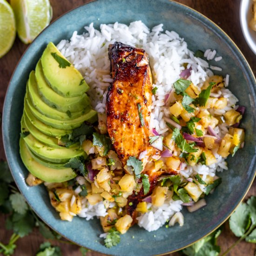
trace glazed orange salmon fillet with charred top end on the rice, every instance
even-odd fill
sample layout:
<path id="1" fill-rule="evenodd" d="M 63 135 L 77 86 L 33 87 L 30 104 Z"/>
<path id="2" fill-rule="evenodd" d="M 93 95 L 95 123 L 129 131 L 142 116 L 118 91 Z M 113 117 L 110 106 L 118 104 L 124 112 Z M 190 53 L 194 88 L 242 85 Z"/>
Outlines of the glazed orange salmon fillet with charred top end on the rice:
<path id="1" fill-rule="evenodd" d="M 107 94 L 107 128 L 123 165 L 129 156 L 159 155 L 149 144 L 152 75 L 148 54 L 120 42 L 109 46 L 110 72 L 114 81 Z"/>

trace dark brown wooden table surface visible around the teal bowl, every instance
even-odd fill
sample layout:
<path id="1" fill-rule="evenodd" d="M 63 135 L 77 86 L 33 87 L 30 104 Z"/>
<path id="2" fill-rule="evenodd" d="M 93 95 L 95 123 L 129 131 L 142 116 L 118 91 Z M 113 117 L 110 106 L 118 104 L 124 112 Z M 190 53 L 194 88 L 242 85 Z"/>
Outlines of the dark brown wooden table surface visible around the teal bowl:
<path id="1" fill-rule="evenodd" d="M 90 0 L 50 0 L 53 7 L 53 21 L 61 14 L 78 7 Z M 146 0 L 145 0 L 146 2 Z M 251 66 L 254 74 L 256 74 L 256 56 L 249 49 L 246 41 L 243 38 L 243 34 L 239 22 L 239 5 L 240 0 L 177 0 L 184 5 L 194 8 L 200 13 L 213 20 L 219 25 L 230 37 L 235 41 L 236 45 L 243 52 L 249 65 Z M 125 10 L 124 10 L 125 13 Z M 6 94 L 8 82 L 11 78 L 13 70 L 17 65 L 21 55 L 26 50 L 27 45 L 20 42 L 16 38 L 14 45 L 10 52 L 0 59 L 0 109 L 2 110 L 4 97 Z M 0 111 L 1 111 L 0 110 Z M 0 137 L 0 159 L 5 159 L 5 154 L 2 146 L 2 136 Z M 250 195 L 256 195 L 256 181 L 254 181 L 251 189 L 249 190 L 248 198 Z M 7 243 L 11 232 L 5 230 L 4 216 L 0 216 L 0 241 Z M 229 225 L 226 222 L 224 224 L 224 230 L 222 235 L 218 239 L 219 245 L 221 245 L 222 251 L 225 251 L 237 238 L 229 230 Z M 35 230 L 31 235 L 20 239 L 17 243 L 17 249 L 15 256 L 33 256 L 39 248 L 40 243 L 44 241 L 40 233 Z M 58 244 L 58 243 L 56 243 Z M 63 255 L 65 256 L 79 256 L 81 253 L 78 247 L 69 244 L 59 244 L 61 246 Z M 229 256 L 254 256 L 256 250 L 256 244 L 253 243 L 240 243 L 235 249 L 229 253 Z M 100 256 L 99 253 L 89 252 L 89 256 Z M 179 255 L 178 253 L 170 254 L 172 256 Z"/>

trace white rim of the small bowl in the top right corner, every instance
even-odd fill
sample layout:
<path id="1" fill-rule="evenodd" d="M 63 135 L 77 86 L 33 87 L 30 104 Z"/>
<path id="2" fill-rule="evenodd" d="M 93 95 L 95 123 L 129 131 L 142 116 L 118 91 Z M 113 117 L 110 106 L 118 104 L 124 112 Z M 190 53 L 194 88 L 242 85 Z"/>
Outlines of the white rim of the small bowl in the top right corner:
<path id="1" fill-rule="evenodd" d="M 248 27 L 248 21 L 246 19 L 246 16 L 247 16 L 246 9 L 247 9 L 247 5 L 250 5 L 250 3 L 251 3 L 251 0 L 241 0 L 240 8 L 239 8 L 239 18 L 240 18 L 240 25 L 241 25 L 244 39 L 246 40 L 252 52 L 256 54 L 256 43 L 254 43 L 254 40 L 251 36 L 251 32 Z"/>

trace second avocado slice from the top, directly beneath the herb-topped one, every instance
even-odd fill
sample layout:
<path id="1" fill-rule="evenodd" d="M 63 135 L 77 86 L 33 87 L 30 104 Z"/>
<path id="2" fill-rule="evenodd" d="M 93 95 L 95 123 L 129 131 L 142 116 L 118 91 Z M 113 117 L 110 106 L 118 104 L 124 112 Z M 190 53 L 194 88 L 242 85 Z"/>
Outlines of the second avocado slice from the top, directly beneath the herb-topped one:
<path id="1" fill-rule="evenodd" d="M 45 81 L 41 60 L 38 61 L 35 68 L 35 77 L 37 81 L 38 93 L 41 99 L 50 107 L 66 113 L 81 111 L 90 105 L 90 100 L 87 94 L 72 98 L 65 98 L 57 94 Z"/>

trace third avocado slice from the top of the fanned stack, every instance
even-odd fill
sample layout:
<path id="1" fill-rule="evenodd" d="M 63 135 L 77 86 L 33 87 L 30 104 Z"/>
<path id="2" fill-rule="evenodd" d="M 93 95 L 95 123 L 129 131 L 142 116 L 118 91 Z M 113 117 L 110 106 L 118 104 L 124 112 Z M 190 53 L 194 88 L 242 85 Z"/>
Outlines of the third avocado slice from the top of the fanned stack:
<path id="1" fill-rule="evenodd" d="M 51 108 L 50 106 L 48 106 L 44 101 L 42 101 L 40 94 L 38 93 L 37 82 L 35 79 L 34 70 L 31 71 L 31 73 L 29 75 L 29 80 L 28 80 L 27 86 L 28 86 L 27 87 L 28 93 L 29 93 L 30 99 L 31 99 L 34 107 L 37 108 L 37 110 L 39 110 L 42 114 L 44 114 L 50 118 L 54 118 L 56 120 L 61 120 L 61 121 L 73 120 L 73 119 L 83 115 L 83 113 L 88 112 L 88 109 L 91 109 L 90 106 L 88 106 L 88 109 L 83 109 L 78 112 L 71 113 L 68 110 L 67 113 L 63 113 L 63 112 L 58 111 L 55 108 Z"/>

